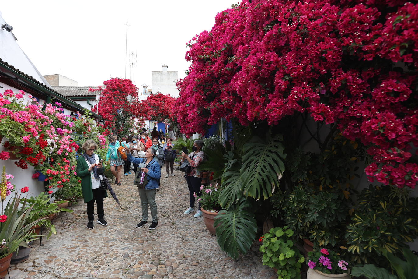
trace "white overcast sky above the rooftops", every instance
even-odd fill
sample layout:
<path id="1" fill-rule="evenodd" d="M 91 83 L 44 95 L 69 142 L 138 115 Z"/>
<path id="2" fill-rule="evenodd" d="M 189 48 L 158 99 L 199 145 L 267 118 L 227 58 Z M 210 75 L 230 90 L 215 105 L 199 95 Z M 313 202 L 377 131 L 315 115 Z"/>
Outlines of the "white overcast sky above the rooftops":
<path id="1" fill-rule="evenodd" d="M 16 0 L 2 1 L 0 11 L 41 74 L 62 74 L 79 85 L 125 77 L 127 21 L 128 59 L 130 52 L 137 54 L 132 79 L 140 87 L 151 86 L 151 71 L 161 71 L 163 64 L 184 77 L 186 43 L 209 31 L 215 15 L 238 2 Z"/>

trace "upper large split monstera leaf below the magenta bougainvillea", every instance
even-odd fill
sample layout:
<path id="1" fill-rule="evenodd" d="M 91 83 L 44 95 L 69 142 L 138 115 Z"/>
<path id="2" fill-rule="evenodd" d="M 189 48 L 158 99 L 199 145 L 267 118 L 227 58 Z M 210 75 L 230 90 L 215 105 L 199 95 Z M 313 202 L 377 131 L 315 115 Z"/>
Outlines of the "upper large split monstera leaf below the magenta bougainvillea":
<path id="1" fill-rule="evenodd" d="M 244 145 L 240 172 L 241 190 L 245 196 L 258 200 L 273 195 L 285 170 L 283 150 L 283 144 L 273 139 L 264 143 L 254 137 Z"/>

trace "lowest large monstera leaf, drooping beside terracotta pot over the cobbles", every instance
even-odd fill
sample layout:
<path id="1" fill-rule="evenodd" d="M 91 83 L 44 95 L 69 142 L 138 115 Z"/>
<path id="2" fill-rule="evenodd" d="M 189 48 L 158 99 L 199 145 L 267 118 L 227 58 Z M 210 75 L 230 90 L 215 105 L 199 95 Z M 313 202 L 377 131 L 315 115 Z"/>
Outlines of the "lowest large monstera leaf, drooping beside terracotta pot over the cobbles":
<path id="1" fill-rule="evenodd" d="M 229 210 L 221 210 L 214 226 L 219 247 L 234 259 L 238 258 L 239 253 L 247 253 L 257 233 L 251 204 L 244 197 Z"/>

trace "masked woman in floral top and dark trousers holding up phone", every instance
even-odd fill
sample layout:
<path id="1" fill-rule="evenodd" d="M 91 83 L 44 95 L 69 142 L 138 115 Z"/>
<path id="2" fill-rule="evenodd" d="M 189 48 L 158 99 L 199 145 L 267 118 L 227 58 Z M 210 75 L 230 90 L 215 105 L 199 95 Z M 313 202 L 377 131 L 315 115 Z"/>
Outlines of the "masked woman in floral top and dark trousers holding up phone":
<path id="1" fill-rule="evenodd" d="M 184 177 L 186 177 L 187 186 L 189 187 L 189 208 L 184 212 L 184 214 L 189 214 L 190 212 L 194 211 L 194 202 L 195 197 L 194 193 L 198 197 L 202 195 L 200 191 L 200 186 L 202 184 L 202 176 L 200 171 L 197 169 L 199 164 L 203 161 L 204 158 L 204 152 L 201 151 L 203 148 L 203 141 L 197 140 L 194 141 L 192 150 L 189 155 L 182 152 L 181 156 L 189 161 L 191 168 L 190 172 L 187 172 L 184 174 Z M 199 210 L 197 210 L 196 214 L 194 215 L 194 218 L 200 217 L 203 213 L 200 211 L 201 203 L 199 202 Z"/>

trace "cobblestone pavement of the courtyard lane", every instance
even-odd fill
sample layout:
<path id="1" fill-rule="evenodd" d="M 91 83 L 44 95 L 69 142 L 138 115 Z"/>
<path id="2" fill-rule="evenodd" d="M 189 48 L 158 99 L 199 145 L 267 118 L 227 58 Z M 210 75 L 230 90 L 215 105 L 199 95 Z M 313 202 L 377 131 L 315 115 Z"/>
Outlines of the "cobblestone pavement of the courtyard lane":
<path id="1" fill-rule="evenodd" d="M 150 219 L 135 227 L 141 215 L 138 190 L 133 174 L 122 176 L 122 186 L 113 187 L 122 209 L 110 195 L 104 199 L 107 227 L 94 223 L 88 230 L 86 205 L 80 200 L 68 220 L 63 215 L 65 225 L 61 218 L 54 220 L 56 235 L 42 247 L 36 241 L 27 261 L 11 265 L 10 278 L 277 278 L 262 265 L 258 241 L 245 256 L 229 258 L 203 217 L 183 214 L 189 204 L 183 173 L 176 170 L 176 176 L 165 178 L 164 166 L 163 171 L 155 230 L 148 229 Z"/>

